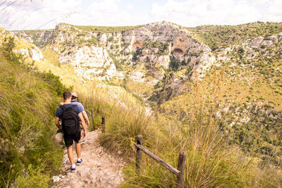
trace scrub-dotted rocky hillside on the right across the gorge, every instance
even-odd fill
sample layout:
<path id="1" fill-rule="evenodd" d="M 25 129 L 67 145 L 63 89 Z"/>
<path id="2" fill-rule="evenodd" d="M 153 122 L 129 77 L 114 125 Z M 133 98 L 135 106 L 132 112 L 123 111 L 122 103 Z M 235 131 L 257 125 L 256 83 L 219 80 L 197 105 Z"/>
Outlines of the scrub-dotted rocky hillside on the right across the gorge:
<path id="1" fill-rule="evenodd" d="M 220 120 L 221 131 L 229 135 L 230 146 L 240 146 L 246 155 L 257 158 L 262 164 L 272 163 L 281 168 L 282 44 L 265 45 L 271 42 L 271 37 L 281 36 L 276 35 L 281 32 L 281 23 L 210 25 L 190 29 L 196 28 L 199 35 L 206 37 L 209 45 L 212 44 L 209 43 L 212 42 L 209 40 L 211 36 L 221 37 L 214 38 L 214 42 L 219 44 L 214 51 L 218 58 L 217 65 L 201 82 L 197 82 L 197 86 L 195 82 L 185 82 L 191 92 L 164 101 L 158 106 L 159 111 L 185 123 L 191 111 L 197 108 L 195 96 L 207 106 L 215 100 L 216 110 L 212 115 Z M 220 32 L 223 29 L 228 32 Z M 231 37 L 234 39 L 226 42 Z M 257 46 L 251 46 L 247 41 L 257 41 Z M 171 75 L 177 73 L 172 72 Z"/>

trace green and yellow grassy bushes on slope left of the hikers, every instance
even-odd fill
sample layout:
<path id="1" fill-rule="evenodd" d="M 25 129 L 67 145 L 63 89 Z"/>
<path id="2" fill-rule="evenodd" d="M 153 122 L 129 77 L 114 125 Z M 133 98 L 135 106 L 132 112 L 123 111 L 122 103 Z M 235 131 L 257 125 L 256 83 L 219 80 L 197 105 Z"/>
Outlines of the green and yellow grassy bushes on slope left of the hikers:
<path id="1" fill-rule="evenodd" d="M 0 187 L 48 187 L 61 166 L 54 112 L 66 88 L 59 77 L 25 63 L 14 47 L 12 37 L 1 44 Z"/>

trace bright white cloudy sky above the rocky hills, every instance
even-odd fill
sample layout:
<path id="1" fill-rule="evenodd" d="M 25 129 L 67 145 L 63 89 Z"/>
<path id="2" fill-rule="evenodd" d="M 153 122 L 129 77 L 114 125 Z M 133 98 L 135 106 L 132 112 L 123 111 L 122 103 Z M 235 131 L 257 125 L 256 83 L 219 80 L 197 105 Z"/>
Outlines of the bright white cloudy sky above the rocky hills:
<path id="1" fill-rule="evenodd" d="M 0 27 L 53 29 L 73 25 L 143 25 L 169 21 L 185 27 L 282 22 L 282 0 L 0 0 Z"/>

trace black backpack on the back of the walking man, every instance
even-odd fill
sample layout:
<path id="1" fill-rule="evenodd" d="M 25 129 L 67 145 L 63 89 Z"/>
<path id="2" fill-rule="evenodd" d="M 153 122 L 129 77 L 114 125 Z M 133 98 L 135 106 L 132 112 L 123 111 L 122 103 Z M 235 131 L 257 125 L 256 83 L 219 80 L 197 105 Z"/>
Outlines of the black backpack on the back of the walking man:
<path id="1" fill-rule="evenodd" d="M 78 114 L 75 112 L 75 106 L 77 105 L 74 104 L 70 107 L 60 106 L 60 108 L 63 109 L 61 115 L 63 132 L 66 132 L 67 134 L 75 134 L 80 130 L 79 118 Z"/>

